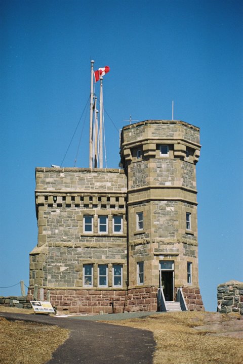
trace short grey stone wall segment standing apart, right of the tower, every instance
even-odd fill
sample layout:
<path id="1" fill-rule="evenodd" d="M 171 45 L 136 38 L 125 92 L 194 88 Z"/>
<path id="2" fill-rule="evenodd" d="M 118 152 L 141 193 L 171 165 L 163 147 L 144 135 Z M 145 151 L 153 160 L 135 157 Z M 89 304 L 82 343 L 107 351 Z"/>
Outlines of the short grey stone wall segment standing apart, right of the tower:
<path id="1" fill-rule="evenodd" d="M 243 315 L 243 282 L 229 281 L 218 286 L 218 312 Z"/>

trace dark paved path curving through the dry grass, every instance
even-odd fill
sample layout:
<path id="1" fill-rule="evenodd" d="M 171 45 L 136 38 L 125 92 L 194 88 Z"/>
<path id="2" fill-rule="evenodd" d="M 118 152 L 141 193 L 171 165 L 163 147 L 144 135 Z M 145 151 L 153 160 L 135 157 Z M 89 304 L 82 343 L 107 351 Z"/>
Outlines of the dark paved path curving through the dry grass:
<path id="1" fill-rule="evenodd" d="M 47 364 L 152 364 L 155 342 L 150 331 L 75 320 L 74 317 L 9 312 L 0 312 L 0 316 L 9 320 L 58 325 L 70 330 L 69 338 L 53 353 Z"/>

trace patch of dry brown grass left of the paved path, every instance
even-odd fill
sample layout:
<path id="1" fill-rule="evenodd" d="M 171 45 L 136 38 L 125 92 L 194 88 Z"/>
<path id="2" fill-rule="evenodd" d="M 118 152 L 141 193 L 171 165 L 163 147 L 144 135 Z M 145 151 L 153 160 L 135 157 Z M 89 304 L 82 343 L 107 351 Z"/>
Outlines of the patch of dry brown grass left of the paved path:
<path id="1" fill-rule="evenodd" d="M 0 363 L 43 364 L 68 336 L 69 330 L 57 326 L 0 317 Z"/>

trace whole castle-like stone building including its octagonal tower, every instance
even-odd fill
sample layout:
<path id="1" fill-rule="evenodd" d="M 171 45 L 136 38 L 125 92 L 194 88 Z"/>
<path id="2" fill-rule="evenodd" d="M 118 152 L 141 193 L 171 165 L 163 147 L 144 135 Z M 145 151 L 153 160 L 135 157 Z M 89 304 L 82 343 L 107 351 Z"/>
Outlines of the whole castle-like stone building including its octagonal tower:
<path id="1" fill-rule="evenodd" d="M 36 168 L 38 243 L 30 286 L 70 312 L 157 309 L 198 286 L 195 165 L 199 128 L 146 120 L 121 132 L 121 169 Z"/>

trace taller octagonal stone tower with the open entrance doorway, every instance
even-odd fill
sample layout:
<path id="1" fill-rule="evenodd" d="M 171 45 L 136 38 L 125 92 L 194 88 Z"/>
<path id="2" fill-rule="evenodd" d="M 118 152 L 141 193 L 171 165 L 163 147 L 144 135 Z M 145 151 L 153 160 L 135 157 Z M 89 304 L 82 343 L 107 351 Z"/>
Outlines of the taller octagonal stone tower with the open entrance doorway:
<path id="1" fill-rule="evenodd" d="M 125 126 L 121 162 L 128 178 L 129 288 L 160 285 L 166 301 L 182 288 L 189 309 L 203 309 L 198 286 L 195 165 L 199 128 L 146 120 Z M 138 291 L 137 291 L 138 292 Z"/>

